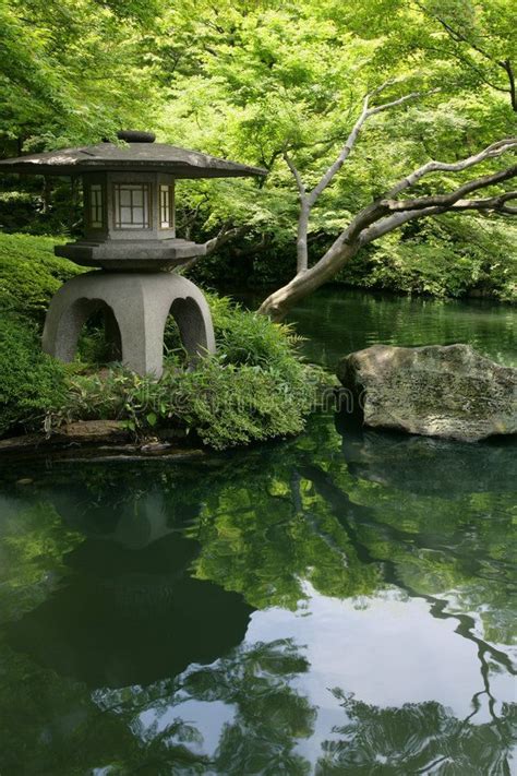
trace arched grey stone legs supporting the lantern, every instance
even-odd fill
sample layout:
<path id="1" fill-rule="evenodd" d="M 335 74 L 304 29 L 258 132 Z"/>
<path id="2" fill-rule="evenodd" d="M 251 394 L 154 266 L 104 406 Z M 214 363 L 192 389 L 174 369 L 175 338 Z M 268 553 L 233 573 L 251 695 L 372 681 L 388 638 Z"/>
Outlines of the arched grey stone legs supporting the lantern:
<path id="1" fill-rule="evenodd" d="M 104 271 L 77 275 L 58 290 L 45 322 L 45 353 L 72 361 L 81 329 L 97 310 L 108 312 L 111 338 L 120 347 L 121 361 L 139 374 L 161 377 L 169 313 L 178 324 L 191 362 L 215 353 L 211 311 L 193 283 L 167 272 Z"/>

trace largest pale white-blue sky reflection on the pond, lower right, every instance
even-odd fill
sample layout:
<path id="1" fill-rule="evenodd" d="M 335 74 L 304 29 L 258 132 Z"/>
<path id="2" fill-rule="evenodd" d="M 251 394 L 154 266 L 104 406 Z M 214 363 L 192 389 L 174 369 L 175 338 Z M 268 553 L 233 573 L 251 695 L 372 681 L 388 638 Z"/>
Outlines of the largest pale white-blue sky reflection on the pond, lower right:
<path id="1" fill-rule="evenodd" d="M 377 707 L 435 701 L 457 719 L 469 717 L 472 697 L 484 688 L 477 647 L 455 633 L 456 625 L 454 620 L 433 618 L 428 601 L 407 599 L 395 589 L 360 600 L 339 600 L 310 590 L 301 612 L 255 612 L 247 640 L 273 641 L 281 633 L 305 645 L 311 668 L 296 685 L 317 708 L 317 720 L 311 739 L 301 740 L 299 748 L 312 760 L 344 721 L 334 688 Z M 503 702 L 516 700 L 516 685 L 507 674 L 495 673 L 491 691 L 497 699 L 496 715 Z M 489 697 L 483 693 L 482 699 L 479 711 L 470 716 L 473 725 L 491 721 Z"/>

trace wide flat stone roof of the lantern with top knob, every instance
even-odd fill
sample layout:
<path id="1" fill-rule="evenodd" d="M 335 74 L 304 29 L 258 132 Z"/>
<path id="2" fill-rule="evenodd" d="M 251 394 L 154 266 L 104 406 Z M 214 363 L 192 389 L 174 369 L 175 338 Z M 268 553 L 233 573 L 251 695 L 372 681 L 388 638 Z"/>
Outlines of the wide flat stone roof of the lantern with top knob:
<path id="1" fill-rule="evenodd" d="M 165 172 L 176 178 L 235 178 L 265 176 L 262 167 L 250 167 L 168 143 L 155 143 L 147 132 L 119 132 L 124 144 L 98 143 L 29 154 L 0 162 L 0 171 L 27 175 L 82 175 L 101 171 Z"/>

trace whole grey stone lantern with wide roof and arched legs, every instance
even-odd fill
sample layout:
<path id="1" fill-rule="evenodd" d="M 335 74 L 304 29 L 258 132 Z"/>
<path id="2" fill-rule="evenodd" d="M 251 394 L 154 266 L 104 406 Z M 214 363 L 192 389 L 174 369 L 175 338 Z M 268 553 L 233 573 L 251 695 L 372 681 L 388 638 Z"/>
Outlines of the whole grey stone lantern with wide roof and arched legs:
<path id="1" fill-rule="evenodd" d="M 169 313 L 191 361 L 215 351 L 212 317 L 202 291 L 173 272 L 204 246 L 176 236 L 175 184 L 184 178 L 263 176 L 248 167 L 165 143 L 147 132 L 120 132 L 125 144 L 99 143 L 0 162 L 0 171 L 82 176 L 84 238 L 56 246 L 57 255 L 98 267 L 56 294 L 45 322 L 44 350 L 75 356 L 86 320 L 103 310 L 115 358 L 159 378 Z"/>

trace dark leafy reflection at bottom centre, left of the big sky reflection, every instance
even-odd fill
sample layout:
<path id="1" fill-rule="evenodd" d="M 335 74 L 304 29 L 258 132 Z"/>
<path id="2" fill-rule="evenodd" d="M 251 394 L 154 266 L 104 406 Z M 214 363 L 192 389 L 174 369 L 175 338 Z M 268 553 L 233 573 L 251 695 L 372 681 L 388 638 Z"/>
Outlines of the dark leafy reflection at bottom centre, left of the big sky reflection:
<path id="1" fill-rule="evenodd" d="M 232 716 L 221 727 L 215 751 L 204 757 L 207 772 L 301 776 L 309 773 L 309 764 L 294 749 L 298 740 L 312 733 L 316 712 L 290 682 L 308 668 L 289 641 L 241 646 L 213 666 L 188 671 L 176 692 L 164 693 L 159 684 L 149 688 L 145 708 L 159 719 L 171 709 L 171 717 L 175 709 L 180 713 L 187 702 L 223 702 Z M 135 701 L 139 704 L 137 696 Z M 133 711 L 127 703 L 123 708 Z M 155 740 L 142 727 L 139 733 L 144 741 Z M 159 736 L 167 744 L 189 743 L 176 727 L 165 727 Z"/>

